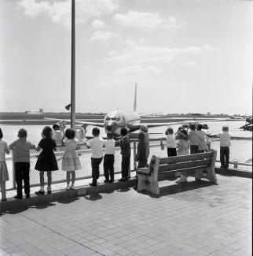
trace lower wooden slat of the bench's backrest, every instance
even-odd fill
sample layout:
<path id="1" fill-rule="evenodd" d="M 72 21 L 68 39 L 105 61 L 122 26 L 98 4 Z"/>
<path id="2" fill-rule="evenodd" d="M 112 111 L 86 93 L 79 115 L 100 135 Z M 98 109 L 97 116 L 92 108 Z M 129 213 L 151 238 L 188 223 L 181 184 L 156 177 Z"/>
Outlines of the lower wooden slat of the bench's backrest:
<path id="1" fill-rule="evenodd" d="M 163 172 L 171 172 L 171 171 L 177 171 L 178 169 L 187 169 L 191 167 L 199 167 L 199 166 L 210 166 L 211 165 L 211 158 L 210 159 L 204 159 L 204 160 L 196 160 L 196 161 L 185 161 L 177 164 L 163 164 L 159 165 L 158 173 Z"/>

